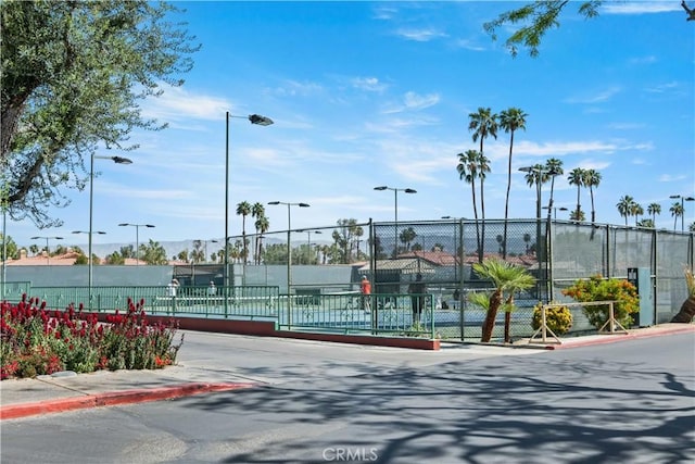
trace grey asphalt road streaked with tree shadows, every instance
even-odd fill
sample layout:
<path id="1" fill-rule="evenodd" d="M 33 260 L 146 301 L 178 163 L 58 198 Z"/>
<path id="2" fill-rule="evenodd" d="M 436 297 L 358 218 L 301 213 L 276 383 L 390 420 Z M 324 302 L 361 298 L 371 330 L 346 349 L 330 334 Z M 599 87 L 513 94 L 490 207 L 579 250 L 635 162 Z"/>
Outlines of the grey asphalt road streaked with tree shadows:
<path id="1" fill-rule="evenodd" d="M 1 424 L 4 463 L 693 463 L 695 337 L 438 352 L 187 335 L 261 386 Z"/>

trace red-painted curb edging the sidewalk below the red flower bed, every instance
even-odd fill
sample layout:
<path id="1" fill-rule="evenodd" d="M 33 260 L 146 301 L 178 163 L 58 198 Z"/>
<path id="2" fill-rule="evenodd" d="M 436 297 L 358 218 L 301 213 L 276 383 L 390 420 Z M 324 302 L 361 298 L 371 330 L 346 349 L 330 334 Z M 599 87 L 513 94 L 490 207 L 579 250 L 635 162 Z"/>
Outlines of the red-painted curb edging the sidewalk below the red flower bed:
<path id="1" fill-rule="evenodd" d="M 38 401 L 35 403 L 11 404 L 8 406 L 0 406 L 0 421 L 39 414 L 61 413 L 87 407 L 115 406 L 118 404 L 170 400 L 174 398 L 193 394 L 251 388 L 254 386 L 255 384 L 184 384 L 176 387 L 111 391 L 77 398 L 63 398 L 58 400 Z"/>

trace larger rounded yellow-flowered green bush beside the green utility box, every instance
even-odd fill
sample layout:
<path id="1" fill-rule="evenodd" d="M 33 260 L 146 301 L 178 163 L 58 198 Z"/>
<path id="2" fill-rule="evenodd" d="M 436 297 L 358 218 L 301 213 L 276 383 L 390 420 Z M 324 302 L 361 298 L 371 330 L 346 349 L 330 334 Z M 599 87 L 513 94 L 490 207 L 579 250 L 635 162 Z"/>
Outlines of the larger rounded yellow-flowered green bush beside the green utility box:
<path id="1" fill-rule="evenodd" d="M 574 285 L 563 290 L 563 294 L 582 303 L 589 301 L 616 301 L 612 305 L 614 316 L 624 327 L 632 325 L 631 314 L 640 311 L 637 289 L 634 285 L 623 279 L 604 279 L 601 275 L 595 275 L 590 277 L 589 280 L 574 281 Z M 584 306 L 583 312 L 589 322 L 597 329 L 608 321 L 607 304 Z"/>

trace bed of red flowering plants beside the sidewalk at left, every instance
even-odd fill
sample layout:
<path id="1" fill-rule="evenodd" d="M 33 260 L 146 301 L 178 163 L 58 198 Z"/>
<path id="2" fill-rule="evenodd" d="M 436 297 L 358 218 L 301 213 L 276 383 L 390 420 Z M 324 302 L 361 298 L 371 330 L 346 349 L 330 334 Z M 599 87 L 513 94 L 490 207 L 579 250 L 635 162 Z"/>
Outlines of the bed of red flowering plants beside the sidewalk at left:
<path id="1" fill-rule="evenodd" d="M 35 377 L 59 371 L 152 369 L 176 362 L 184 343 L 173 344 L 174 322 L 149 324 L 144 301 L 128 299 L 128 311 L 106 316 L 46 309 L 26 294 L 17 304 L 0 303 L 0 378 Z"/>

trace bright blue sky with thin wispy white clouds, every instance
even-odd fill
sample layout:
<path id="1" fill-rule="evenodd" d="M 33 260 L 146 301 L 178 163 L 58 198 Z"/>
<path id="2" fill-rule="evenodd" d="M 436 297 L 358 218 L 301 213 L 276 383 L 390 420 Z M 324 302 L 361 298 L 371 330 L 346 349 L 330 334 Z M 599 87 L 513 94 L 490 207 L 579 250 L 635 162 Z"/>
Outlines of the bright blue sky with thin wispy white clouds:
<path id="1" fill-rule="evenodd" d="M 599 223 L 623 224 L 616 203 L 630 195 L 645 210 L 660 203 L 657 226 L 672 229 L 669 196 L 695 196 L 695 26 L 680 1 L 611 2 L 591 21 L 570 5 L 535 59 L 511 58 L 482 29 L 520 2 L 176 4 L 202 49 L 182 87 L 143 105 L 169 128 L 134 134 L 137 151 L 99 153 L 134 163 L 96 162 L 93 229 L 106 235 L 94 243 L 135 242 L 118 223 L 155 225 L 140 242 L 224 237 L 226 111 L 275 122 L 229 122 L 230 235 L 241 234 L 240 201 L 309 203 L 292 210 L 293 229 L 393 221 L 394 195 L 374 190 L 381 185 L 418 191 L 399 195 L 399 221 L 472 218 L 456 155 L 478 148 L 468 115 L 480 106 L 528 114 L 515 136 L 513 217 L 535 214 L 535 190 L 517 168 L 548 158 L 566 173 L 601 172 Z M 504 217 L 508 142 L 502 130 L 485 141 L 490 218 Z M 9 222 L 8 235 L 20 246 L 55 235 L 86 243 L 70 233 L 88 229 L 89 192 L 68 195 L 72 204 L 54 212 L 63 227 Z M 589 191 L 581 197 L 589 216 Z M 557 178 L 556 206 L 576 202 L 577 188 Z M 270 230 L 287 229 L 286 206 L 266 214 Z M 693 221 L 695 202 L 685 203 Z"/>

